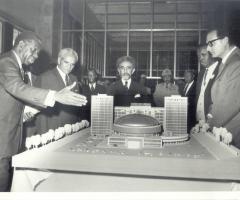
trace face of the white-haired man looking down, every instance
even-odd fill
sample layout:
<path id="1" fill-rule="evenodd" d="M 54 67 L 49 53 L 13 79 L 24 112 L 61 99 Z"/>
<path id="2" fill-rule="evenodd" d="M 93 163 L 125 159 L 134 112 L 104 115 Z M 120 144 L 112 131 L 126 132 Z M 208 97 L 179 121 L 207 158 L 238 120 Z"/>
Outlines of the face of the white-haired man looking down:
<path id="1" fill-rule="evenodd" d="M 76 59 L 73 56 L 58 58 L 58 67 L 65 74 L 69 74 L 73 70 L 75 63 L 76 63 Z"/>

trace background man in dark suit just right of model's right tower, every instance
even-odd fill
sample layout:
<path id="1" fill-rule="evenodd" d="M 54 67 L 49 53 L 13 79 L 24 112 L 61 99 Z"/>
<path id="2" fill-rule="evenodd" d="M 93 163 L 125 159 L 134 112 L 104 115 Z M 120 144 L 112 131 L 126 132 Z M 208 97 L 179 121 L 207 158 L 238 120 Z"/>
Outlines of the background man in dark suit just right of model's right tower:
<path id="1" fill-rule="evenodd" d="M 195 112 L 196 112 L 196 82 L 194 80 L 194 72 L 192 70 L 186 70 L 184 72 L 184 90 L 182 96 L 188 97 L 188 133 L 190 132 L 191 128 L 196 123 Z"/>

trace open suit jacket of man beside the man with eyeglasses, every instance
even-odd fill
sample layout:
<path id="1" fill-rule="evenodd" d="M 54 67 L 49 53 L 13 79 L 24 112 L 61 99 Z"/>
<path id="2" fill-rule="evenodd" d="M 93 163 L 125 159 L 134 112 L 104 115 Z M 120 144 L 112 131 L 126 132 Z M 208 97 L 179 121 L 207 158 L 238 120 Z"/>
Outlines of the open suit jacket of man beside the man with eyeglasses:
<path id="1" fill-rule="evenodd" d="M 199 98 L 199 95 L 201 92 L 201 86 L 202 86 L 205 71 L 206 71 L 206 69 L 203 68 L 200 70 L 200 72 L 198 74 L 197 84 L 196 84 L 196 105 L 197 105 L 198 98 Z M 212 104 L 211 89 L 212 89 L 212 85 L 215 81 L 217 74 L 218 74 L 218 66 L 216 66 L 215 70 L 213 71 L 214 77 L 209 80 L 207 87 L 205 89 L 205 92 L 204 92 L 204 113 L 205 113 L 206 119 L 207 119 L 207 114 L 209 113 L 209 106 Z"/>

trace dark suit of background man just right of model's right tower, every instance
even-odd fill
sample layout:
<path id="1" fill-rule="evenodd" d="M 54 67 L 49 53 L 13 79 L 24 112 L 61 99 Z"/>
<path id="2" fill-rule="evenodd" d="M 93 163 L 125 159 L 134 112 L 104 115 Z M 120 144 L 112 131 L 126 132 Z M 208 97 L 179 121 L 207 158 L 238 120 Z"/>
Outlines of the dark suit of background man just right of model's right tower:
<path id="1" fill-rule="evenodd" d="M 186 85 L 185 85 L 186 86 Z M 196 123 L 196 81 L 193 81 L 191 87 L 184 91 L 183 96 L 188 97 L 188 133 Z"/>

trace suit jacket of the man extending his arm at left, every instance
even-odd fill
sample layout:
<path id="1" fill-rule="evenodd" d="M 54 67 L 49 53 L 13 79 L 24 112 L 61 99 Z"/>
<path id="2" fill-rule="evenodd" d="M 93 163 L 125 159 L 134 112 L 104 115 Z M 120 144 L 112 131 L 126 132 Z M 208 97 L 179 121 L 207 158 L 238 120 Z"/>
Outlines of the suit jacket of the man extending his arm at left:
<path id="1" fill-rule="evenodd" d="M 17 154 L 22 143 L 22 112 L 25 103 L 45 107 L 48 90 L 23 82 L 12 51 L 0 57 L 0 158 Z"/>

